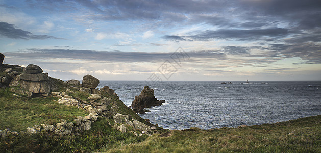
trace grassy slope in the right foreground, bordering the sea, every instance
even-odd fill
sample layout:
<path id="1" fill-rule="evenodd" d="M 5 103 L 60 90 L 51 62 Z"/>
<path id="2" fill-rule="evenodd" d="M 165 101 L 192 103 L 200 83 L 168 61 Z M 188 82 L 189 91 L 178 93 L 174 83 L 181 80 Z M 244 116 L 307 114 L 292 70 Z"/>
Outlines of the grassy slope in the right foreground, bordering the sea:
<path id="1" fill-rule="evenodd" d="M 321 152 L 321 115 L 240 129 L 174 130 L 107 152 Z"/>

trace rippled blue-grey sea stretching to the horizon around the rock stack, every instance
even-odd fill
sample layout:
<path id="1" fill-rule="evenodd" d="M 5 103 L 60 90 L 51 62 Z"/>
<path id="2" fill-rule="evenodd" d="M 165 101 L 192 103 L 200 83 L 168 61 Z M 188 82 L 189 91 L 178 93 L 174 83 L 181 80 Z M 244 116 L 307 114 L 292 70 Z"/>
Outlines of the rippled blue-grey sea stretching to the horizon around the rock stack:
<path id="1" fill-rule="evenodd" d="M 220 84 L 217 81 L 167 81 L 150 86 L 162 106 L 140 114 L 166 129 L 214 129 L 276 123 L 321 115 L 321 81 L 262 81 Z M 245 82 L 243 82 L 245 83 Z M 132 104 L 145 81 L 101 81 Z"/>

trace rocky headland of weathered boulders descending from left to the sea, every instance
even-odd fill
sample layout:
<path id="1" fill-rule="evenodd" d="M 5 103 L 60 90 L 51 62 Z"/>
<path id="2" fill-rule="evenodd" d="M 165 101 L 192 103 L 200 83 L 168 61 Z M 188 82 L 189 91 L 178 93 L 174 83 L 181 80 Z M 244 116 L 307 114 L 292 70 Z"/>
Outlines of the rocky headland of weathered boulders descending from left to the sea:
<path id="1" fill-rule="evenodd" d="M 3 61 L 4 55 L 0 54 Z M 66 82 L 48 76 L 43 70 L 33 64 L 27 67 L 18 65 L 0 65 L 0 87 L 8 90 L 15 97 L 21 98 L 47 98 L 52 97 L 58 104 L 77 106 L 89 113 L 87 116 L 77 116 L 72 122 L 64 119 L 55 125 L 39 124 L 28 127 L 24 131 L 10 131 L 8 128 L 0 130 L 0 138 L 11 135 L 37 134 L 45 132 L 54 135 L 80 135 L 91 129 L 91 124 L 99 117 L 108 119 L 111 128 L 122 133 L 133 133 L 135 136 L 143 134 L 151 136 L 158 133 L 158 127 L 140 118 L 130 108 L 125 106 L 113 89 L 108 86 L 97 88 L 99 80 L 92 75 L 85 75 L 80 81 L 72 79 Z M 152 90 L 153 91 L 153 90 Z M 152 100 L 146 94 L 153 94 L 147 87 L 142 96 L 144 100 Z M 153 99 L 154 101 L 157 99 Z M 150 105 L 147 105 L 150 106 Z M 126 126 L 125 126 L 126 125 Z M 138 132 L 139 131 L 139 132 Z"/>

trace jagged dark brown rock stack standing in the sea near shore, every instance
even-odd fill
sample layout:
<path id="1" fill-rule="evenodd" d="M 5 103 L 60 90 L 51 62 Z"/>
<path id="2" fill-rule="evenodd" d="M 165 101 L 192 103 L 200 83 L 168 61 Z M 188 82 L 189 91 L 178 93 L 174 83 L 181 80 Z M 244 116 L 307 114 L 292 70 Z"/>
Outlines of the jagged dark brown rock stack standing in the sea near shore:
<path id="1" fill-rule="evenodd" d="M 135 96 L 135 100 L 132 102 L 132 108 L 135 113 L 145 113 L 144 108 L 151 108 L 153 106 L 161 106 L 165 103 L 165 100 L 157 100 L 154 95 L 154 90 L 145 86 L 140 92 L 139 96 Z"/>

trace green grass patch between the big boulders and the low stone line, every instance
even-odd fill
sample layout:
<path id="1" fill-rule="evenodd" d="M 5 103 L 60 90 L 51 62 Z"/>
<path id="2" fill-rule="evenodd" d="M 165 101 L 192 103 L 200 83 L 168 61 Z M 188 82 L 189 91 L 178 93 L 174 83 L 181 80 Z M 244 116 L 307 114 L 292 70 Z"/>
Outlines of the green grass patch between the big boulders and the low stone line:
<path id="1" fill-rule="evenodd" d="M 53 101 L 58 98 L 32 98 L 13 96 L 9 89 L 0 89 L 0 130 L 25 131 L 27 127 L 57 123 L 60 119 L 72 121 L 77 116 L 88 115 L 81 108 Z"/>

